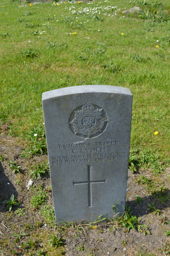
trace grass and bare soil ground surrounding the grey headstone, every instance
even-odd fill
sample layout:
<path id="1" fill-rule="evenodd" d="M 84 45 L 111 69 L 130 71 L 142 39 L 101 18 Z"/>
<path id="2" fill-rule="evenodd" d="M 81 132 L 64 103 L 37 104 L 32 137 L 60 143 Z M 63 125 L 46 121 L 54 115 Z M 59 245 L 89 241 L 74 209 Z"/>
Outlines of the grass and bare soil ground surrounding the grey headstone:
<path id="1" fill-rule="evenodd" d="M 0 253 L 170 255 L 169 1 L 2 0 L 0 14 Z M 134 96 L 126 213 L 57 226 L 42 92 L 88 84 Z"/>

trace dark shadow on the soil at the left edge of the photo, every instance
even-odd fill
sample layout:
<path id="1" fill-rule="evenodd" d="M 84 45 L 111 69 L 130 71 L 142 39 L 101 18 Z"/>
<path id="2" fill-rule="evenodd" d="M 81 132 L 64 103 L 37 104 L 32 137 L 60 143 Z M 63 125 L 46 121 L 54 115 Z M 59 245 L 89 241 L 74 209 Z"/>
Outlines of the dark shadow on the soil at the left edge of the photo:
<path id="1" fill-rule="evenodd" d="M 12 194 L 14 195 L 14 198 L 18 197 L 18 192 L 15 186 L 12 185 L 11 181 L 6 176 L 5 171 L 0 162 L 0 212 L 6 211 L 6 206 L 2 202 L 9 200 Z"/>

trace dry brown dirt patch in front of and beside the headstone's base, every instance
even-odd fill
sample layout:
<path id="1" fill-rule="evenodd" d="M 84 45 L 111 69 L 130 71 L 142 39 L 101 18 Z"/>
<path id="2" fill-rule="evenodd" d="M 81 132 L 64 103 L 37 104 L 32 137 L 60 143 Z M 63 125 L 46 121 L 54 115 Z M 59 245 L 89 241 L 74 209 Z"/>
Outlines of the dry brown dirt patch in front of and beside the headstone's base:
<path id="1" fill-rule="evenodd" d="M 113 231 L 113 224 L 110 222 L 103 222 L 95 225 L 96 228 L 88 229 L 84 226 L 85 231 L 83 235 L 80 233 L 79 237 L 75 237 L 77 233 L 70 227 L 68 229 L 61 229 L 57 226 L 51 226 L 47 223 L 47 219 L 42 214 L 42 206 L 38 209 L 33 208 L 30 201 L 35 193 L 27 189 L 27 184 L 30 180 L 30 168 L 37 164 L 41 164 L 48 160 L 47 155 L 33 156 L 32 158 L 23 159 L 20 156 L 22 149 L 27 147 L 27 142 L 20 138 L 12 138 L 5 133 L 0 136 L 0 155 L 5 157 L 4 161 L 0 162 L 0 252 L 5 251 L 6 255 L 12 255 L 12 250 L 16 250 L 18 255 L 37 255 L 36 250 L 43 249 L 48 255 L 62 255 L 67 256 L 74 255 L 140 255 L 139 251 L 145 255 L 155 253 L 156 256 L 161 256 L 162 245 L 170 244 L 170 238 L 165 236 L 165 231 L 170 230 L 169 224 L 163 223 L 161 216 L 165 215 L 167 220 L 170 220 L 169 207 L 170 207 L 170 183 L 168 180 L 168 174 L 170 169 L 167 168 L 166 173 L 161 176 L 154 176 L 152 173 L 146 170 L 141 170 L 141 174 L 148 179 L 154 180 L 156 186 L 167 186 L 167 190 L 163 193 L 164 198 L 161 199 L 154 194 L 153 191 L 149 191 L 144 185 L 138 185 L 137 178 L 140 177 L 140 173 L 132 174 L 128 172 L 128 186 L 126 204 L 131 207 L 132 214 L 137 218 L 141 217 L 140 223 L 147 226 L 150 234 L 144 234 L 138 232 L 138 229 L 130 229 L 127 232 L 126 228 Z M 17 165 L 21 165 L 21 173 L 12 173 L 9 168 L 9 160 L 15 161 Z M 51 208 L 53 207 L 52 194 L 49 189 L 51 184 L 50 175 L 45 175 L 38 180 L 33 180 L 35 188 L 41 185 L 47 193 L 46 204 Z M 6 206 L 2 203 L 8 200 L 11 195 L 18 199 L 20 206 L 15 206 L 9 213 L 6 211 Z M 142 197 L 142 204 L 135 203 L 135 195 Z M 166 196 L 166 198 L 165 198 Z M 156 209 L 161 211 L 161 215 L 154 215 L 153 212 L 147 210 L 148 205 L 152 202 Z M 43 206 L 44 207 L 44 206 Z M 24 214 L 16 214 L 16 209 L 24 209 Z M 40 222 L 39 226 L 36 223 Z M 164 224 L 164 225 L 162 225 Z M 30 225 L 31 228 L 28 228 Z M 112 229 L 112 230 L 110 230 Z M 110 232 L 109 232 L 110 230 Z M 15 241 L 15 237 L 12 234 L 26 232 L 28 235 L 21 237 L 21 239 Z M 49 235 L 56 233 L 61 236 L 64 242 L 63 246 L 54 248 L 51 246 Z M 37 238 L 39 245 L 37 248 L 27 249 L 27 252 L 21 252 L 18 250 L 23 243 L 30 241 L 30 236 Z M 163 244 L 162 244 L 163 243 Z M 159 250 L 160 248 L 160 250 Z M 165 247 L 164 247 L 165 248 Z M 82 250 L 82 251 L 81 251 Z M 14 253 L 13 253 L 14 254 Z M 15 254 L 14 254 L 15 255 Z M 147 255 L 147 254 L 146 254 Z M 168 254 L 166 254 L 168 255 Z"/>

